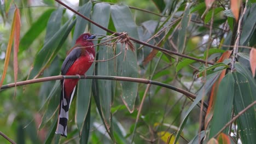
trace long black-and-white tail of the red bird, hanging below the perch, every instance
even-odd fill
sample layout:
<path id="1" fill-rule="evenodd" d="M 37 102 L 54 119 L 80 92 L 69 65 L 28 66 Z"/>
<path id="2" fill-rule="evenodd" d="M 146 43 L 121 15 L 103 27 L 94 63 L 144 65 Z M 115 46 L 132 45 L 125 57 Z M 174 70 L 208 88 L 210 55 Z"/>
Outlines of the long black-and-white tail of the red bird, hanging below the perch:
<path id="1" fill-rule="evenodd" d="M 59 106 L 59 119 L 57 123 L 57 129 L 55 131 L 56 134 L 61 134 L 62 136 L 67 137 L 67 121 L 68 121 L 68 110 L 70 108 L 75 87 L 73 89 L 73 92 L 71 95 L 68 95 L 70 97 L 67 97 L 65 93 L 65 80 L 61 82 L 61 98 L 60 98 L 60 106 Z"/>

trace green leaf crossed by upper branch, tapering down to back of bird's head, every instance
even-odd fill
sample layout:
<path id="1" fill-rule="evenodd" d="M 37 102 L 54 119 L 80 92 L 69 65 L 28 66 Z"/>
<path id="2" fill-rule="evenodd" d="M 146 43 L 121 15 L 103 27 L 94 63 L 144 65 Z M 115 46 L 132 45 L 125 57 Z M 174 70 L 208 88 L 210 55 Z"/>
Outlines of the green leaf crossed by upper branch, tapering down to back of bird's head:
<path id="1" fill-rule="evenodd" d="M 86 17 L 90 17 L 91 9 L 92 3 L 91 1 L 89 1 L 79 9 L 79 13 L 83 14 Z M 86 21 L 83 17 L 77 16 L 77 22 L 75 23 L 72 45 L 74 45 L 77 38 L 84 33 L 85 27 L 88 25 L 88 23 L 89 22 Z"/>

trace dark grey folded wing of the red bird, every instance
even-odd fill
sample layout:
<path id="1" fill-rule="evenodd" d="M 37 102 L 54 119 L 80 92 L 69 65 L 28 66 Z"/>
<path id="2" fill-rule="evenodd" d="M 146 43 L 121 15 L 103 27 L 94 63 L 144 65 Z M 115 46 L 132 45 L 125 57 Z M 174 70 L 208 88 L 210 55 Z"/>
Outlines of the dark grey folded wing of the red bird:
<path id="1" fill-rule="evenodd" d="M 78 47 L 78 46 L 76 46 Z M 81 55 L 81 49 L 76 49 L 76 47 L 68 53 L 68 56 L 64 60 L 62 67 L 61 67 L 61 75 L 66 75 L 68 69 L 72 66 L 72 64 L 77 60 L 78 57 Z"/>

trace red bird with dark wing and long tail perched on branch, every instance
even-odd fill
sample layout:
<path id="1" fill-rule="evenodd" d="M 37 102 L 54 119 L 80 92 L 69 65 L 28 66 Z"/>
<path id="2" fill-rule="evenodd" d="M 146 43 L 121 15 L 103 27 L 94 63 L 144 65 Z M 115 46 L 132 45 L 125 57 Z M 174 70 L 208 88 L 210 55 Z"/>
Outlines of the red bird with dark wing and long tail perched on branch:
<path id="1" fill-rule="evenodd" d="M 95 58 L 95 49 L 92 39 L 96 36 L 84 33 L 78 37 L 75 45 L 67 53 L 62 63 L 61 75 L 85 75 Z M 61 97 L 59 116 L 55 133 L 67 137 L 68 110 L 74 96 L 75 87 L 79 79 L 61 80 Z"/>

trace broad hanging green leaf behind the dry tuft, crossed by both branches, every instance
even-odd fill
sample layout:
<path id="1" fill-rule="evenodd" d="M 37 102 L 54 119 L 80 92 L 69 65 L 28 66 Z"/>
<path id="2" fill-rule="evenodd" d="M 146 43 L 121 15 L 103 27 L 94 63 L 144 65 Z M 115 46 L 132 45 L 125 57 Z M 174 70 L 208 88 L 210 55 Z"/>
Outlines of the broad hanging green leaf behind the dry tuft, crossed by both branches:
<path id="1" fill-rule="evenodd" d="M 129 32 L 128 34 L 138 39 L 137 26 L 133 21 L 131 11 L 127 5 L 111 5 L 111 16 L 115 29 L 118 32 Z M 138 77 L 137 56 L 131 50 L 125 50 L 125 46 L 117 47 L 118 76 Z M 126 54 L 126 55 L 125 55 Z M 123 101 L 130 112 L 134 110 L 135 99 L 138 91 L 138 83 L 121 81 L 123 89 Z"/>

